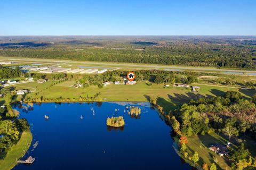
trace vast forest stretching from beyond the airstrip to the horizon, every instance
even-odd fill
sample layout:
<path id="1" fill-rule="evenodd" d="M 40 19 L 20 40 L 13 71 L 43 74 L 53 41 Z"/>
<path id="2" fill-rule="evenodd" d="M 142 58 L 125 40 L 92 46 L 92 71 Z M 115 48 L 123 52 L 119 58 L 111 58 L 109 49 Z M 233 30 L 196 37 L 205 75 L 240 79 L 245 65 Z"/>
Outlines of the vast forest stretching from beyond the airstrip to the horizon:
<path id="1" fill-rule="evenodd" d="M 256 69 L 256 37 L 0 37 L 0 55 Z"/>

